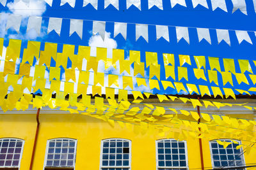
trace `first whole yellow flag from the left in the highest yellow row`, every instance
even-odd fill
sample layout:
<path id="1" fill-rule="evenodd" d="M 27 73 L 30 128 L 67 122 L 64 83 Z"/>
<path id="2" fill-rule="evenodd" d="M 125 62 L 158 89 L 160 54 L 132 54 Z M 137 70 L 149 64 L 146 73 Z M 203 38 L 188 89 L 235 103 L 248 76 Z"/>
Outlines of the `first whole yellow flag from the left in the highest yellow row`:
<path id="1" fill-rule="evenodd" d="M 6 48 L 6 55 L 5 60 L 13 60 L 16 62 L 17 59 L 20 57 L 20 47 L 21 47 L 21 40 L 20 39 L 10 39 L 9 45 Z"/>

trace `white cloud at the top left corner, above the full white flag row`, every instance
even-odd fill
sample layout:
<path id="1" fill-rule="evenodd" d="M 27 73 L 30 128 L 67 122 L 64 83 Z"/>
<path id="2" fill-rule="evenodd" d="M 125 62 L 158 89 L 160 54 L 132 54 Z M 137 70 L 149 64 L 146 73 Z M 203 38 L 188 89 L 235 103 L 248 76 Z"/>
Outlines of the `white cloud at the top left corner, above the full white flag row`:
<path id="1" fill-rule="evenodd" d="M 6 6 L 14 15 L 23 16 L 41 16 L 46 10 L 45 2 L 38 0 L 30 0 L 29 4 L 23 1 L 14 1 Z"/>

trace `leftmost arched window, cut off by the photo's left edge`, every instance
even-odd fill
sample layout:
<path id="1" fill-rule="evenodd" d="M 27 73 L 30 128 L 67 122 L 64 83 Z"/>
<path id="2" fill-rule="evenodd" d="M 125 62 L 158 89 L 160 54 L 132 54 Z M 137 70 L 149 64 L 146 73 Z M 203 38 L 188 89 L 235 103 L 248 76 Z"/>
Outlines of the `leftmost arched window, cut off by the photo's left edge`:
<path id="1" fill-rule="evenodd" d="M 0 167 L 19 169 L 23 146 L 22 139 L 0 139 Z"/>

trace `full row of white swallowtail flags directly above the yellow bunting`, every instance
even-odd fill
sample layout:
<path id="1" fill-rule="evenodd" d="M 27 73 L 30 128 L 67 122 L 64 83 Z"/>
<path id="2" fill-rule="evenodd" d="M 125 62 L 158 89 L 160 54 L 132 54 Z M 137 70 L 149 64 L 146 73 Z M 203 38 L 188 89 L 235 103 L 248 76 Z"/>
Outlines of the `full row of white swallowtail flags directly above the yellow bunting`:
<path id="1" fill-rule="evenodd" d="M 0 14 L 1 17 L 1 14 Z M 27 25 L 27 32 L 29 31 L 35 31 L 38 36 L 40 35 L 41 27 L 42 27 L 42 18 L 43 17 L 29 17 L 28 18 L 28 25 Z M 48 18 L 48 17 L 44 17 Z M 62 25 L 63 18 L 54 18 L 49 17 L 49 23 L 47 27 L 47 34 L 49 34 L 52 31 L 55 31 L 59 36 L 61 33 L 61 25 Z M 84 20 L 77 20 L 77 19 L 68 19 L 70 20 L 70 30 L 69 30 L 69 36 L 76 34 L 82 39 L 83 38 L 83 29 L 85 22 Z M 105 31 L 106 31 L 106 22 L 105 21 L 97 21 L 97 20 L 86 20 L 89 22 L 92 22 L 93 28 L 92 32 L 94 35 L 99 34 L 101 38 L 104 40 Z M 10 28 L 14 29 L 19 33 L 20 30 L 20 24 L 22 22 L 22 16 L 20 15 L 8 15 L 5 29 L 6 31 Z M 111 24 L 114 24 L 114 38 L 121 34 L 124 39 L 127 39 L 127 23 L 124 22 L 108 22 Z M 129 25 L 135 25 L 135 37 L 136 41 L 142 37 L 145 39 L 145 41 L 148 42 L 148 25 L 147 24 L 129 24 Z M 67 25 L 68 26 L 68 25 Z M 156 27 L 156 40 L 159 38 L 164 38 L 166 41 L 170 41 L 169 33 L 175 28 L 176 36 L 177 36 L 177 43 L 179 43 L 180 39 L 184 39 L 189 44 L 189 29 L 196 29 L 198 41 L 202 41 L 205 39 L 209 44 L 212 43 L 212 36 L 210 35 L 210 30 L 216 31 L 218 43 L 221 41 L 225 41 L 228 45 L 230 45 L 230 31 L 228 29 L 207 29 L 207 28 L 195 28 L 195 27 L 178 27 L 178 26 L 169 26 L 169 25 L 150 25 L 153 27 Z M 252 43 L 252 39 L 250 38 L 248 32 L 251 36 L 256 36 L 256 32 L 253 31 L 234 31 L 236 33 L 237 40 L 239 44 L 242 41 L 247 41 L 248 43 Z"/>

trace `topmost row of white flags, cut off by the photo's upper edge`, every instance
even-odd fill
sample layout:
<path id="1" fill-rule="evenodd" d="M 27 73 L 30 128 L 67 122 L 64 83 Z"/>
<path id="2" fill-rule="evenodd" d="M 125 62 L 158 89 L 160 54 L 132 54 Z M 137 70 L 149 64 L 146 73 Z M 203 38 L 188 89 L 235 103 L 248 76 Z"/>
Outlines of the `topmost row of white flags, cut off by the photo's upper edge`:
<path id="1" fill-rule="evenodd" d="M 23 1 L 24 3 L 28 4 L 30 0 L 14 0 L 15 1 Z M 45 1 L 45 3 L 49 4 L 49 6 L 52 6 L 53 0 L 37 0 L 37 1 Z M 132 5 L 136 6 L 139 10 L 141 10 L 141 1 L 142 0 L 126 0 L 126 6 L 127 9 L 130 8 Z M 156 6 L 160 10 L 163 10 L 163 0 L 147 0 L 148 1 L 148 9 L 152 8 L 153 6 Z M 204 8 L 209 9 L 209 5 L 207 3 L 207 0 L 190 0 L 193 4 L 193 8 L 196 8 L 196 6 L 201 5 L 204 6 Z M 247 15 L 246 10 L 246 1 L 245 0 L 231 0 L 233 4 L 233 10 L 232 12 L 236 10 L 240 10 L 245 15 Z M 256 10 L 256 0 L 249 0 L 252 1 L 254 4 L 254 8 Z M 6 0 L 0 0 L 0 3 L 5 6 Z M 170 0 L 171 8 L 179 4 L 180 6 L 187 7 L 186 0 Z M 74 8 L 76 4 L 76 0 L 61 0 L 60 6 L 63 6 L 64 4 L 69 4 L 72 8 Z M 83 7 L 87 6 L 88 4 L 91 4 L 93 8 L 96 10 L 98 9 L 98 0 L 83 0 Z M 114 6 L 117 10 L 119 10 L 119 0 L 104 0 L 104 8 L 107 8 L 109 5 Z M 211 6 L 212 11 L 216 10 L 217 8 L 220 8 L 223 11 L 227 12 L 227 4 L 225 0 L 211 0 Z"/>

